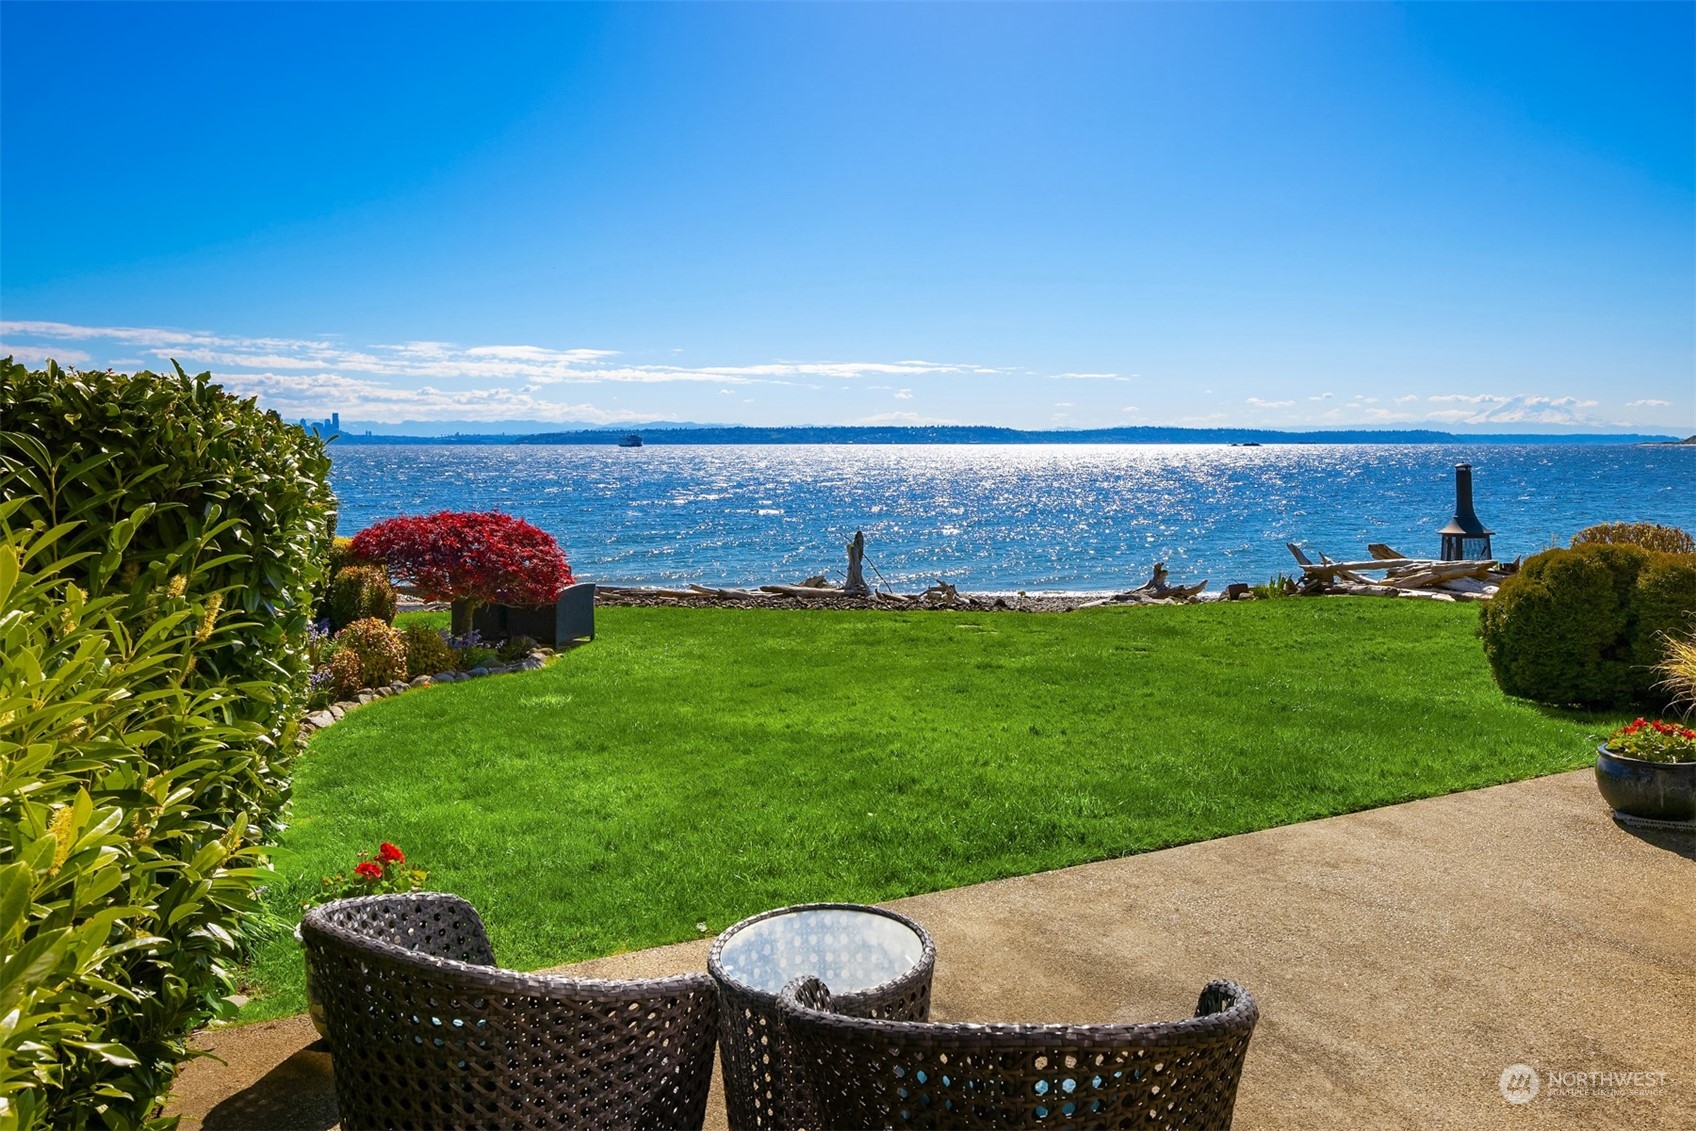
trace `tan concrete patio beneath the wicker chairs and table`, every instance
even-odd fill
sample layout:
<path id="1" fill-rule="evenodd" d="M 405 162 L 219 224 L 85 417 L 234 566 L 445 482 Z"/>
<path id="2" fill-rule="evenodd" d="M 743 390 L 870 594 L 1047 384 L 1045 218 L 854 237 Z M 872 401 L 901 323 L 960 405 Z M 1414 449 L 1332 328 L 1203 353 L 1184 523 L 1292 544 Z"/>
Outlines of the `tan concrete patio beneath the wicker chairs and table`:
<path id="1" fill-rule="evenodd" d="M 1696 1126 L 1696 836 L 1615 824 L 1589 770 L 890 904 L 938 948 L 938 1019 L 1260 1002 L 1238 1128 Z M 707 941 L 568 967 L 702 970 Z M 305 1017 L 202 1034 L 183 1129 L 331 1128 Z M 1506 1102 L 1509 1065 L 1538 1072 Z M 1637 1073 L 1637 1075 L 1630 1075 Z M 714 1089 L 709 1128 L 722 1128 Z"/>

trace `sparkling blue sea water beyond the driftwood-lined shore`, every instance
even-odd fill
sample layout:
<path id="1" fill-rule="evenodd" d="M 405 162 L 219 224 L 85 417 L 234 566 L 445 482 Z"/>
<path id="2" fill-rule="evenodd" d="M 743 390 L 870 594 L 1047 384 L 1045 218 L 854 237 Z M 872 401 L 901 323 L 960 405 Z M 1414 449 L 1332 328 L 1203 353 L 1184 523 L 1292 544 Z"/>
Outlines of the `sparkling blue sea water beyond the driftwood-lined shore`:
<path id="1" fill-rule="evenodd" d="M 1498 558 L 1593 522 L 1696 529 L 1696 446 L 1275 444 L 332 444 L 339 532 L 432 510 L 505 510 L 560 539 L 582 580 L 762 585 L 868 571 L 911 592 L 1264 582 L 1284 548 L 1437 556 L 1453 466 L 1472 463 Z"/>

